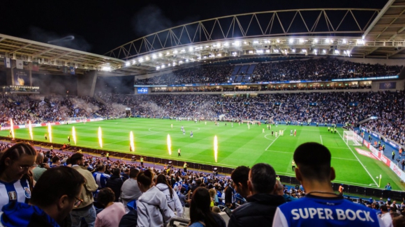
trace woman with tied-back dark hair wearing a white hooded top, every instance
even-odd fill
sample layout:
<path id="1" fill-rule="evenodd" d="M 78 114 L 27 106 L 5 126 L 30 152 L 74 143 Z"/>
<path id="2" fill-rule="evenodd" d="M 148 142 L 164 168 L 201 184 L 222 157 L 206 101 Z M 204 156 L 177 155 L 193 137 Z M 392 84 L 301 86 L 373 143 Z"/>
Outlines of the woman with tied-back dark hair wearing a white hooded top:
<path id="1" fill-rule="evenodd" d="M 175 213 L 168 207 L 166 196 L 153 184 L 154 173 L 147 169 L 138 173 L 138 186 L 142 191 L 136 203 L 138 226 L 166 226 Z"/>

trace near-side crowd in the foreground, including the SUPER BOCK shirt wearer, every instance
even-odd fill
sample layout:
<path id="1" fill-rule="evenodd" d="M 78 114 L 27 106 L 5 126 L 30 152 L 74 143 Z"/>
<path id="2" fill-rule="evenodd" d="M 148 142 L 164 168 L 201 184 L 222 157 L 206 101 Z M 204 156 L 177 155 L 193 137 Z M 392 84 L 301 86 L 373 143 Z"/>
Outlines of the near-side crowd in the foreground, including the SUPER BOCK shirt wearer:
<path id="1" fill-rule="evenodd" d="M 331 153 L 303 143 L 293 154 L 301 187 L 290 194 L 269 164 L 238 166 L 229 178 L 108 157 L 35 150 L 0 153 L 1 226 L 404 226 L 405 201 L 353 201 L 332 189 Z M 311 152 L 311 157 L 308 153 Z M 49 161 L 52 160 L 52 161 Z M 223 219 L 221 209 L 229 217 Z M 180 219 L 177 219 L 180 220 Z"/>

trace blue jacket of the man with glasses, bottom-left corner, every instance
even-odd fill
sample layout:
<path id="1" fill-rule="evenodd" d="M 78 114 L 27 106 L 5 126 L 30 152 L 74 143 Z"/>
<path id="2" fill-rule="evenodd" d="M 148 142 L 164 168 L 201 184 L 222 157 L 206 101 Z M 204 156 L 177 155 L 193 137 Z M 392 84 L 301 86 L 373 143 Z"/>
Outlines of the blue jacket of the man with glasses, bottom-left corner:
<path id="1" fill-rule="evenodd" d="M 8 203 L 1 209 L 1 224 L 8 227 L 58 226 L 42 209 L 27 203 Z"/>

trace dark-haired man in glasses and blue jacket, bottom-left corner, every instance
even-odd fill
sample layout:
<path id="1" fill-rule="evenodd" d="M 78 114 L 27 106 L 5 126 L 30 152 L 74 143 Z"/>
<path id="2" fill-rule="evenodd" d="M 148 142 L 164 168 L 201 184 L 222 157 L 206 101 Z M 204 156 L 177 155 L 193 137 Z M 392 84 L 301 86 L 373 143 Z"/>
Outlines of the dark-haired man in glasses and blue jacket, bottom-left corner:
<path id="1" fill-rule="evenodd" d="M 83 176 L 70 167 L 45 171 L 29 204 L 16 201 L 3 207 L 1 226 L 59 226 L 73 207 L 80 205 L 83 184 Z"/>

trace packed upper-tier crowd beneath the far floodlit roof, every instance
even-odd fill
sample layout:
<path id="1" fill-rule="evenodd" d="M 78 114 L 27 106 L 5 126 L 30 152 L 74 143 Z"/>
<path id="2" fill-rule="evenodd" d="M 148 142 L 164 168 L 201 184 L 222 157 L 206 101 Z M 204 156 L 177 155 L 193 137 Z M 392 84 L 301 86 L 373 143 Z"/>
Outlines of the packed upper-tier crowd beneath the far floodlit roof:
<path id="1" fill-rule="evenodd" d="M 233 67 L 233 65 L 210 65 L 180 69 L 147 79 L 138 79 L 135 81 L 135 84 L 229 83 Z M 403 65 L 354 63 L 351 61 L 341 61 L 337 58 L 279 61 L 273 63 L 258 63 L 251 75 L 250 82 L 291 80 L 326 81 L 330 79 L 379 77 L 398 75 L 402 68 Z M 241 73 L 237 75 L 241 75 Z"/>

